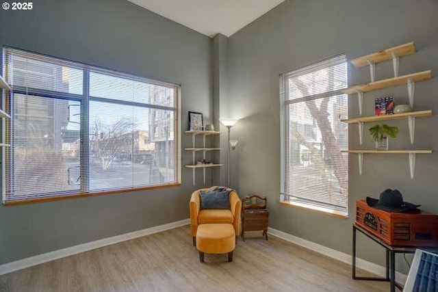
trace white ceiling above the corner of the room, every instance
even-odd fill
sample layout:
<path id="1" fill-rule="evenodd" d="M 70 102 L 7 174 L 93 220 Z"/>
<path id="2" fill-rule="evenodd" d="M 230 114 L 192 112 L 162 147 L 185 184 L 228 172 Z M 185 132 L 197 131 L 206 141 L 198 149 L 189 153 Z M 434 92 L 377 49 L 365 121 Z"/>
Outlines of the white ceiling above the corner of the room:
<path id="1" fill-rule="evenodd" d="M 231 36 L 285 0 L 128 0 L 195 31 Z"/>

